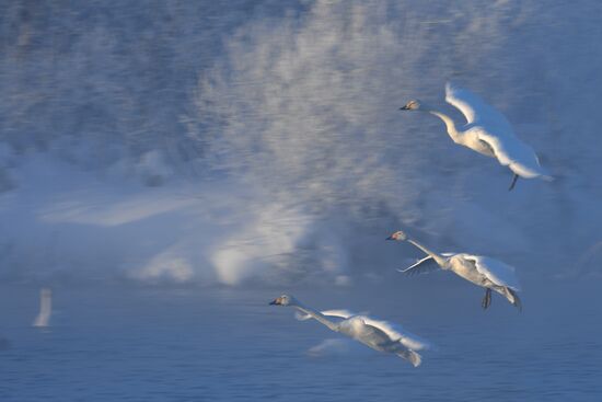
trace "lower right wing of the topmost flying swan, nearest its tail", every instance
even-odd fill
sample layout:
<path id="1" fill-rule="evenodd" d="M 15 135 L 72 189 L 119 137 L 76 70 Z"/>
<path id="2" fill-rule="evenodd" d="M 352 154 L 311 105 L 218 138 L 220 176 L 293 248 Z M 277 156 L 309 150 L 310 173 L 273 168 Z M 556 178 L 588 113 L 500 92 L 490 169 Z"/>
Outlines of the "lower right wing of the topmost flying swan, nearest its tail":
<path id="1" fill-rule="evenodd" d="M 493 129 L 485 130 L 483 127 L 474 127 L 468 131 L 474 133 L 478 139 L 491 147 L 499 163 L 510 168 L 519 176 L 552 179 L 540 165 L 535 151 L 518 139 L 511 128 L 493 127 Z"/>

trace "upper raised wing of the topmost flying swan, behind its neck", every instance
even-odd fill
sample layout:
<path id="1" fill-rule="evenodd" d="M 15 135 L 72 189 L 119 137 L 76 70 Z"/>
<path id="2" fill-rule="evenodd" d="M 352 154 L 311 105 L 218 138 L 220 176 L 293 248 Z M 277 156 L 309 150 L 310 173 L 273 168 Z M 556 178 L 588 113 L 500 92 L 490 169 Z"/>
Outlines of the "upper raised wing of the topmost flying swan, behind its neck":
<path id="1" fill-rule="evenodd" d="M 445 84 L 445 102 L 460 110 L 466 117 L 467 124 L 478 122 L 510 127 L 506 116 L 485 103 L 478 95 L 450 82 Z"/>

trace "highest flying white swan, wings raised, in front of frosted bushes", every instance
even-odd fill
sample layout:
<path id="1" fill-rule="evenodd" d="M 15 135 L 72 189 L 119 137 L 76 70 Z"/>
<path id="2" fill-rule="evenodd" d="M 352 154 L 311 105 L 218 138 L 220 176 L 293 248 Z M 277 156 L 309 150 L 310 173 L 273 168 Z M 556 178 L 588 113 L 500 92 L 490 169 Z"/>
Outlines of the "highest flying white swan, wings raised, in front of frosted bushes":
<path id="1" fill-rule="evenodd" d="M 424 111 L 443 120 L 451 139 L 461 146 L 471 148 L 486 157 L 496 158 L 512 172 L 512 183 L 519 176 L 524 179 L 541 177 L 547 181 L 552 176 L 540 165 L 533 149 L 514 136 L 508 119 L 474 93 L 448 83 L 445 102 L 456 107 L 466 118 L 466 124 L 459 129 L 447 114 L 426 105 L 418 100 L 409 101 L 402 111 Z"/>

